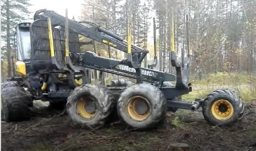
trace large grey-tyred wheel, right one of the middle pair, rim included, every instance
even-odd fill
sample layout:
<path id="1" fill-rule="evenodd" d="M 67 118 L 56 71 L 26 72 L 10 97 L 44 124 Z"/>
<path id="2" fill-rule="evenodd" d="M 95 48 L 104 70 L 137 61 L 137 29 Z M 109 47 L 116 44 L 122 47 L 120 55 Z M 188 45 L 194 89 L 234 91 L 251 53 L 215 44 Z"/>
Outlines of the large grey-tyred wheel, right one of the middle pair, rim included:
<path id="1" fill-rule="evenodd" d="M 127 88 L 117 103 L 120 119 L 131 127 L 154 127 L 166 114 L 166 100 L 159 88 L 136 84 Z"/>

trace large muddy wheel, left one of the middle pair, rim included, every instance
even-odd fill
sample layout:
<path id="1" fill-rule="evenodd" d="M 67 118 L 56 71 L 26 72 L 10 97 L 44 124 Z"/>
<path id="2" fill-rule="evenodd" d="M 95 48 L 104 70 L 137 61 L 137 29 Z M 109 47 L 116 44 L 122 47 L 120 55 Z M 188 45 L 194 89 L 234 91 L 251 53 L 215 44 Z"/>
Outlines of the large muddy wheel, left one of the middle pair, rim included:
<path id="1" fill-rule="evenodd" d="M 102 85 L 85 84 L 68 97 L 67 112 L 78 125 L 103 125 L 115 103 L 111 91 Z"/>

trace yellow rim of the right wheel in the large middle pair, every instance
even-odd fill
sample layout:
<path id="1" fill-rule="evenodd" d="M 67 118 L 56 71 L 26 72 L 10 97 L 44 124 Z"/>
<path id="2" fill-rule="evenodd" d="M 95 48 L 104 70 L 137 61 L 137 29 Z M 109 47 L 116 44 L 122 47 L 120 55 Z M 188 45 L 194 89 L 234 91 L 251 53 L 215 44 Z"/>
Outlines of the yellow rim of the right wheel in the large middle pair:
<path id="1" fill-rule="evenodd" d="M 127 113 L 134 121 L 143 121 L 150 114 L 149 101 L 142 96 L 131 97 L 127 103 Z"/>

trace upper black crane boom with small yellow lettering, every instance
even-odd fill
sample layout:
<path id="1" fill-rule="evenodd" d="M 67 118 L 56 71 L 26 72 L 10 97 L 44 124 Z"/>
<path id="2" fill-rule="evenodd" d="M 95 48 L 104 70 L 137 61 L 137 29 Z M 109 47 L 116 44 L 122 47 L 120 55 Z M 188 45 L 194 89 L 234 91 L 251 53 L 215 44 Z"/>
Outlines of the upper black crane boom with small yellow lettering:
<path id="1" fill-rule="evenodd" d="M 47 19 L 47 18 L 51 18 L 53 26 L 65 27 L 65 17 L 55 13 L 54 11 L 48 11 L 44 9 L 44 10 L 37 11 L 34 15 L 34 20 Z M 120 51 L 127 53 L 128 43 L 122 37 L 96 24 L 91 24 L 91 25 L 92 25 L 91 27 L 87 27 L 87 26 L 84 26 L 83 24 L 80 24 L 79 22 L 68 19 L 69 30 L 73 32 L 77 32 L 80 35 L 83 35 L 95 41 L 107 44 L 111 47 L 114 47 Z M 145 54 L 148 53 L 147 50 L 144 50 L 141 47 L 138 47 L 136 45 L 131 46 L 131 52 L 144 54 L 142 56 L 145 56 Z M 140 58 L 140 60 L 143 60 L 143 58 Z"/>

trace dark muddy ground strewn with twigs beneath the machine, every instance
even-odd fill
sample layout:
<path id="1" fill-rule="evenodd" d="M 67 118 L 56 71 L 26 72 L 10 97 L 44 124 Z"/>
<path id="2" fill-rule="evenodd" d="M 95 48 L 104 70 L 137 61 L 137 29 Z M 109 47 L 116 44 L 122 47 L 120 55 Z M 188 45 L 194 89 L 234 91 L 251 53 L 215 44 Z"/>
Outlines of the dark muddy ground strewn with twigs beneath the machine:
<path id="1" fill-rule="evenodd" d="M 256 151 L 256 101 L 246 106 L 242 121 L 212 127 L 202 112 L 178 110 L 155 129 L 131 129 L 113 121 L 99 129 L 70 125 L 63 111 L 41 108 L 30 121 L 2 122 L 2 150 L 169 150 L 175 142 L 193 151 Z"/>

